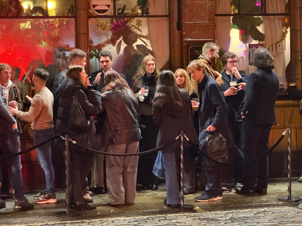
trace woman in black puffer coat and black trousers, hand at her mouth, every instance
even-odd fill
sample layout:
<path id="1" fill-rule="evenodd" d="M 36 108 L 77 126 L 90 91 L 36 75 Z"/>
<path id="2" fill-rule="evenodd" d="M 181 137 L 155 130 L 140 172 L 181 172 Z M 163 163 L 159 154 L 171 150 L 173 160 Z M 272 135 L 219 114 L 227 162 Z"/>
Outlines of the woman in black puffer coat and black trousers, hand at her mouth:
<path id="1" fill-rule="evenodd" d="M 64 136 L 68 134 L 71 139 L 87 148 L 93 148 L 96 132 L 92 116 L 97 115 L 102 110 L 100 93 L 92 89 L 82 66 L 74 65 L 70 67 L 66 76 L 67 78 L 59 86 L 56 131 Z M 75 94 L 77 94 L 78 102 L 90 122 L 85 132 L 76 130 L 69 125 L 70 108 Z M 81 190 L 81 184 L 92 168 L 92 156 L 92 152 L 87 152 L 74 145 L 70 146 L 71 187 L 77 211 L 96 209 L 96 207 L 87 204 Z"/>

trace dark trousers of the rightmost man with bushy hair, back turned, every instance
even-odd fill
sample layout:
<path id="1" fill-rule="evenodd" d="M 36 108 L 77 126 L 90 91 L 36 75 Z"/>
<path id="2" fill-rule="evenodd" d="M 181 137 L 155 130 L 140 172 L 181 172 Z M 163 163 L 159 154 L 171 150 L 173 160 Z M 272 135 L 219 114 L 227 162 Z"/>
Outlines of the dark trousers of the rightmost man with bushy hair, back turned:
<path id="1" fill-rule="evenodd" d="M 244 137 L 243 155 L 244 162 L 257 159 L 267 152 L 267 143 L 270 136 L 271 124 L 256 124 L 256 122 L 245 118 L 242 131 Z M 254 190 L 257 182 L 257 189 L 267 188 L 268 184 L 268 156 L 266 155 L 258 162 L 245 165 L 243 184 L 245 189 Z"/>

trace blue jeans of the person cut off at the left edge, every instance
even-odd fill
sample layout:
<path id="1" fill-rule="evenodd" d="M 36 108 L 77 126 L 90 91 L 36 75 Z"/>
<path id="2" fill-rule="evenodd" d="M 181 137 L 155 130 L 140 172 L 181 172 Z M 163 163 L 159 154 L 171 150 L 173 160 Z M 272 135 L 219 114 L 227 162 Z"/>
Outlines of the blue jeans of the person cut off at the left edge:
<path id="1" fill-rule="evenodd" d="M 6 133 L 0 134 L 0 156 L 8 156 L 19 152 L 18 129 L 13 128 Z M 15 189 L 15 196 L 23 200 L 22 174 L 20 155 L 7 160 L 12 167 L 11 181 Z"/>

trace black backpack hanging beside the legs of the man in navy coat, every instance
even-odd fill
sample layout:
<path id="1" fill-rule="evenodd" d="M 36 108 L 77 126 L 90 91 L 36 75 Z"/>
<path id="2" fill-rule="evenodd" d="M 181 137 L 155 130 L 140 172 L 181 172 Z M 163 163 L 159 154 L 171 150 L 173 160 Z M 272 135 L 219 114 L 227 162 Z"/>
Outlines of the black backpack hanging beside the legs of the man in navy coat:
<path id="1" fill-rule="evenodd" d="M 220 133 L 208 135 L 205 138 L 202 151 L 217 162 L 228 163 L 229 150 L 227 148 L 226 139 Z M 221 165 L 214 163 L 206 157 L 203 158 L 203 163 L 206 168 L 221 167 Z"/>

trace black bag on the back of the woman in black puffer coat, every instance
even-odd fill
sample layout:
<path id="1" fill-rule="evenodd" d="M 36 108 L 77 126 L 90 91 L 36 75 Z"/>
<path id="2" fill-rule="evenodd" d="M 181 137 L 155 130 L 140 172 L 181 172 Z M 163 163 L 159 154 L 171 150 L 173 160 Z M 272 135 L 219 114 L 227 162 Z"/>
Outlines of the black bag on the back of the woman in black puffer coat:
<path id="1" fill-rule="evenodd" d="M 90 121 L 87 120 L 79 103 L 77 90 L 72 97 L 68 125 L 77 132 L 87 132 L 90 126 Z"/>

